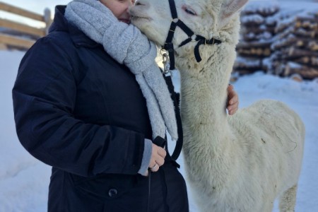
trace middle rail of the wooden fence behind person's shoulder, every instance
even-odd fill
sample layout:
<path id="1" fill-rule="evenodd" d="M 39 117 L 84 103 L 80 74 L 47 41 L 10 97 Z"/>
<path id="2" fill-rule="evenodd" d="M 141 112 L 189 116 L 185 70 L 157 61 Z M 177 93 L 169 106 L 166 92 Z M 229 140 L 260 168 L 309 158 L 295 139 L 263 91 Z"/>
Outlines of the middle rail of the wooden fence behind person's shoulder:
<path id="1" fill-rule="evenodd" d="M 31 35 L 37 35 L 39 37 L 43 37 L 46 34 L 45 29 L 33 28 L 31 26 L 17 23 L 11 20 L 6 20 L 3 18 L 0 18 L 0 27 L 11 28 L 12 30 L 16 30 L 21 33 L 28 33 Z"/>

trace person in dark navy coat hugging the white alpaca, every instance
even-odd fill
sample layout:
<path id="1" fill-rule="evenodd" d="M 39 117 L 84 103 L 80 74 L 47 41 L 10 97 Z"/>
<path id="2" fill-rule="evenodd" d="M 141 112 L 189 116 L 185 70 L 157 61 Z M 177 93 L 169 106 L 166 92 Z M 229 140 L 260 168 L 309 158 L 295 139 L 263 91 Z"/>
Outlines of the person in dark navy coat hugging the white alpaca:
<path id="1" fill-rule="evenodd" d="M 129 25 L 128 8 L 134 1 L 73 2 L 111 11 L 116 19 L 109 19 L 112 30 L 124 26 L 123 32 L 132 30 L 136 40 L 145 39 Z M 47 210 L 189 211 L 184 178 L 163 136 L 154 134 L 151 100 L 145 95 L 153 88 L 132 71 L 147 57 L 129 63 L 129 51 L 121 49 L 125 58 L 118 61 L 111 56 L 117 49 L 107 52 L 112 48 L 88 37 L 65 13 L 66 6 L 56 7 L 49 34 L 26 52 L 13 86 L 18 139 L 31 155 L 52 166 Z M 86 10 L 77 14 L 83 13 L 88 15 Z M 90 18 L 95 14 L 89 13 Z M 117 40 L 111 43 L 120 45 Z M 147 56 L 153 46 L 145 45 L 148 49 L 141 53 Z M 129 48 L 134 53 L 134 46 Z M 238 98 L 232 86 L 228 100 L 229 114 L 234 114 Z M 160 104 L 153 107 L 169 110 Z"/>

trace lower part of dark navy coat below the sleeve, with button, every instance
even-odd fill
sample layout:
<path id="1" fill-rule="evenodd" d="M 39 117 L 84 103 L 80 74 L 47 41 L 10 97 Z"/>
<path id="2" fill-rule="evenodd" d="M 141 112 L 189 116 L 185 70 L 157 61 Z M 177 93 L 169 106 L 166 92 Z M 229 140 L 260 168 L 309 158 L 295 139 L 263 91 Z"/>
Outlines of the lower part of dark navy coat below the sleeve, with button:
<path id="1" fill-rule="evenodd" d="M 148 177 L 81 177 L 53 168 L 48 211 L 188 212 L 189 206 L 182 175 L 175 165 L 165 163 Z"/>

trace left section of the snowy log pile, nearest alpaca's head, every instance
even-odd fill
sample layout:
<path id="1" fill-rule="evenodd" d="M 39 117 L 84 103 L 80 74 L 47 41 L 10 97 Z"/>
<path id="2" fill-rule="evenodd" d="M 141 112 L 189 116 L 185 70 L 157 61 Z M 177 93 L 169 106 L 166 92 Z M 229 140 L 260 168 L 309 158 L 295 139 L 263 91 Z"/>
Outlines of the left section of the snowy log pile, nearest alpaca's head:
<path id="1" fill-rule="evenodd" d="M 279 6 L 266 2 L 264 5 L 249 4 L 241 13 L 240 42 L 237 45 L 237 60 L 234 71 L 245 74 L 268 71 L 271 44 L 275 35 Z"/>

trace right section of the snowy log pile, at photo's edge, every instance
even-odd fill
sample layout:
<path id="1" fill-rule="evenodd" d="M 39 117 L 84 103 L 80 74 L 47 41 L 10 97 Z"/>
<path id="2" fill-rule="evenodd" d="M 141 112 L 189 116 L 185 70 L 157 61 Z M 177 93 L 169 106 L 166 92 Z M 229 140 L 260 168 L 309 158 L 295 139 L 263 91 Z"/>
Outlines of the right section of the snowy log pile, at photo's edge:
<path id="1" fill-rule="evenodd" d="M 272 72 L 279 76 L 318 77 L 318 12 L 284 15 L 271 45 Z"/>

